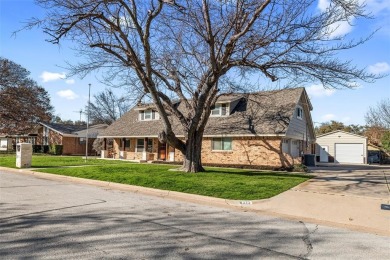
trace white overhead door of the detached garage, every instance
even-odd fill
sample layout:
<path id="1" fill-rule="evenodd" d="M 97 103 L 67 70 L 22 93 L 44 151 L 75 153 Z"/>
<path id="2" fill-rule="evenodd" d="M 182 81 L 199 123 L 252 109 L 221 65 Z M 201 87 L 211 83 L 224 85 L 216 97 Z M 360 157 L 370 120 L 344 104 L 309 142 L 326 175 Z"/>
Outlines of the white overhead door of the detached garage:
<path id="1" fill-rule="evenodd" d="M 364 163 L 363 144 L 336 144 L 336 161 L 339 163 Z"/>

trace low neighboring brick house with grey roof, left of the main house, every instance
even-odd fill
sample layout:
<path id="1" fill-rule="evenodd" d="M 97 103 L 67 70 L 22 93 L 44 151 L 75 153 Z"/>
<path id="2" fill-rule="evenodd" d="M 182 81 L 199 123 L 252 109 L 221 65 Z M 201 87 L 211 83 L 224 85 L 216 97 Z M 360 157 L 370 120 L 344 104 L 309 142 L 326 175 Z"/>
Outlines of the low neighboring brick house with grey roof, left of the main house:
<path id="1" fill-rule="evenodd" d="M 88 154 L 93 154 L 92 143 L 108 125 L 89 126 Z M 40 123 L 35 129 L 37 145 L 62 145 L 62 154 L 84 155 L 86 151 L 86 125 Z"/>

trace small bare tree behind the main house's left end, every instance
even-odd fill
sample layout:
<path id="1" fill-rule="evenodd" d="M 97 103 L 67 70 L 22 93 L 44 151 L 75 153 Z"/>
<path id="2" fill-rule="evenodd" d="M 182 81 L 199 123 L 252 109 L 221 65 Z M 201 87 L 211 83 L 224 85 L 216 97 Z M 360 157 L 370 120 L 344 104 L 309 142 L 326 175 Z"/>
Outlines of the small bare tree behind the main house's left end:
<path id="1" fill-rule="evenodd" d="M 135 104 L 135 98 L 118 97 L 110 89 L 94 95 L 94 99 L 89 104 L 89 117 L 93 124 L 111 124 Z M 88 107 L 85 111 L 88 111 Z"/>

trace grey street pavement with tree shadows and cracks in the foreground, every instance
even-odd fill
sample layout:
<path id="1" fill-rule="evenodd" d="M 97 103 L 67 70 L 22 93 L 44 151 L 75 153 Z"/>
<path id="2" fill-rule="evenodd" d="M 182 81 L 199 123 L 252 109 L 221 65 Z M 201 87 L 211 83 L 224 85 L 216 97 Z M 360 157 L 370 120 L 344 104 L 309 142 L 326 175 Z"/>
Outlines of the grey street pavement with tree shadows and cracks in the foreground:
<path id="1" fill-rule="evenodd" d="M 388 259 L 389 250 L 386 236 L 0 171 L 1 259 Z"/>

